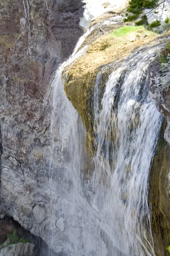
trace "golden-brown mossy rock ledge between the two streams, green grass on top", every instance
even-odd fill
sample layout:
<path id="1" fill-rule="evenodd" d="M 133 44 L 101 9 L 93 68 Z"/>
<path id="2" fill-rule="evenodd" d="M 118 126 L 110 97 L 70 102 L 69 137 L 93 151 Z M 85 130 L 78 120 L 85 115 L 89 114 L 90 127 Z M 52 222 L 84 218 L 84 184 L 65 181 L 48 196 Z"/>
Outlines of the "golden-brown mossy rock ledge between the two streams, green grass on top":
<path id="1" fill-rule="evenodd" d="M 91 154 L 94 154 L 96 148 L 93 106 L 97 74 L 102 73 L 99 84 L 99 98 L 102 99 L 109 75 L 115 66 L 119 66 L 118 60 L 123 60 L 131 52 L 142 49 L 159 37 L 142 26 L 121 26 L 116 25 L 115 29 L 111 26 L 106 31 L 102 27 L 103 33 L 98 33 L 97 36 L 95 29 L 85 40 L 88 45 L 86 53 L 65 67 L 62 73 L 65 93 L 85 125 L 87 146 Z"/>

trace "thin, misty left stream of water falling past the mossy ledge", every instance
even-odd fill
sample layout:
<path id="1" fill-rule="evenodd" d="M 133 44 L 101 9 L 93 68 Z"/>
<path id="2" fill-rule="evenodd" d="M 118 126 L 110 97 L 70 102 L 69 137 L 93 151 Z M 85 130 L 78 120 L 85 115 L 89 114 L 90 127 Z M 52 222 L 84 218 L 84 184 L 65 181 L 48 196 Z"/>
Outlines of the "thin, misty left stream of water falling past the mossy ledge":
<path id="1" fill-rule="evenodd" d="M 83 47 L 77 52 L 93 29 L 89 29 L 79 39 L 71 57 L 57 70 L 52 84 L 54 95 L 49 189 L 53 218 L 50 218 L 49 226 L 53 233 L 49 235 L 51 247 L 55 247 L 57 253 L 67 256 L 107 254 L 105 243 L 98 239 L 100 230 L 96 232 L 96 213 L 88 204 L 83 190 L 85 128 L 65 95 L 62 84 L 62 71 L 88 48 Z"/>

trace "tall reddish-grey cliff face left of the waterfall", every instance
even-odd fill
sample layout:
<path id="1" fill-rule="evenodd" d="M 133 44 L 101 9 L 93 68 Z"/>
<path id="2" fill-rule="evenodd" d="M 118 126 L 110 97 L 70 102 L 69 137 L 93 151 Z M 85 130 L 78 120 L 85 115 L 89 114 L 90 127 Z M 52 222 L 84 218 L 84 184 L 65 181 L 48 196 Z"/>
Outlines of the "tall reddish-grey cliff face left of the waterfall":
<path id="1" fill-rule="evenodd" d="M 51 201 L 51 107 L 44 108 L 44 99 L 82 34 L 82 6 L 80 0 L 0 1 L 0 212 L 38 236 Z"/>

